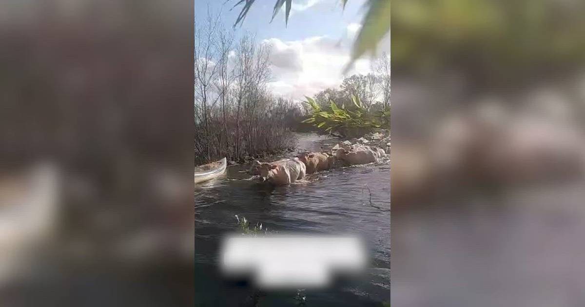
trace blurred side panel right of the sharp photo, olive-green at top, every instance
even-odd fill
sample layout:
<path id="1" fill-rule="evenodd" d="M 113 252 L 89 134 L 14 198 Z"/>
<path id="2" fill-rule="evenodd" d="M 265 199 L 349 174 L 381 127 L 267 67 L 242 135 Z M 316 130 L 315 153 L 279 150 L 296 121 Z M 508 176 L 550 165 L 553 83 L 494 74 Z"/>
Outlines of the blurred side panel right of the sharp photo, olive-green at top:
<path id="1" fill-rule="evenodd" d="M 582 306 L 581 1 L 392 1 L 394 306 Z"/>

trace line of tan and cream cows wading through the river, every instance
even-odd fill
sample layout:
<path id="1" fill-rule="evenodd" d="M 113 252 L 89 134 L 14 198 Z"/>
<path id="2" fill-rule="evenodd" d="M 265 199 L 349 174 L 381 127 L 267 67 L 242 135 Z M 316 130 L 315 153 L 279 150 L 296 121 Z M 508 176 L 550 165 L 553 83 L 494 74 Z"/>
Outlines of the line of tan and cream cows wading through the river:
<path id="1" fill-rule="evenodd" d="M 260 181 L 268 181 L 273 185 L 291 184 L 317 171 L 330 168 L 367 164 L 377 162 L 386 157 L 386 152 L 374 146 L 363 144 L 337 144 L 331 153 L 301 153 L 294 158 L 263 163 L 253 161 L 249 173 L 259 175 Z"/>

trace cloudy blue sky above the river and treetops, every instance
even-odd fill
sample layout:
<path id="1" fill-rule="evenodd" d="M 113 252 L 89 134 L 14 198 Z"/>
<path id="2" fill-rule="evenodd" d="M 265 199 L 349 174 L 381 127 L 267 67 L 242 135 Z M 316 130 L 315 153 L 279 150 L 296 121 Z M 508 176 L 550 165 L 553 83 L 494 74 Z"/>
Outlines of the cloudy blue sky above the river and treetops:
<path id="1" fill-rule="evenodd" d="M 221 11 L 224 25 L 232 29 L 241 6 L 230 8 L 237 1 L 195 0 L 195 22 L 207 18 L 209 6 L 213 15 Z M 236 39 L 245 31 L 252 32 L 259 44 L 270 46 L 272 79 L 268 86 L 273 94 L 298 100 L 337 87 L 361 27 L 366 0 L 349 0 L 345 10 L 341 0 L 293 0 L 288 26 L 284 6 L 270 23 L 275 2 L 256 0 L 243 25 L 233 29 Z M 369 71 L 370 59 L 363 58 L 348 75 Z"/>

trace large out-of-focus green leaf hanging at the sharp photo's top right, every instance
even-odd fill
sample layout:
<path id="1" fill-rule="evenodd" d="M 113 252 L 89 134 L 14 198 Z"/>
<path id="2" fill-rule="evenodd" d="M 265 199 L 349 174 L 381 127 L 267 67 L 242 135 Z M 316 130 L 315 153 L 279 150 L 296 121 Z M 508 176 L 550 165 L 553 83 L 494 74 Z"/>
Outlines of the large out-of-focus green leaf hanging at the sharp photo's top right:
<path id="1" fill-rule="evenodd" d="M 343 74 L 346 74 L 363 54 L 376 51 L 378 43 L 388 32 L 390 32 L 390 0 L 370 0 L 362 29 L 353 43 L 351 59 L 343 70 Z"/>

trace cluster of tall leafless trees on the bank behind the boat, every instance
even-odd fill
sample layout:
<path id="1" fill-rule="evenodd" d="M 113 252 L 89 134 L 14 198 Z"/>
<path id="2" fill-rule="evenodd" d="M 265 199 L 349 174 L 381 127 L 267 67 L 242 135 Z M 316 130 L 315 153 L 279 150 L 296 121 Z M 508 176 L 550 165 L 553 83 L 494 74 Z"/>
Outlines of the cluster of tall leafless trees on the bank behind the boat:
<path id="1" fill-rule="evenodd" d="M 249 33 L 236 42 L 219 15 L 208 13 L 195 29 L 196 160 L 242 160 L 290 148 L 285 117 L 295 114 L 294 107 L 278 102 L 267 88 L 270 46 Z"/>

